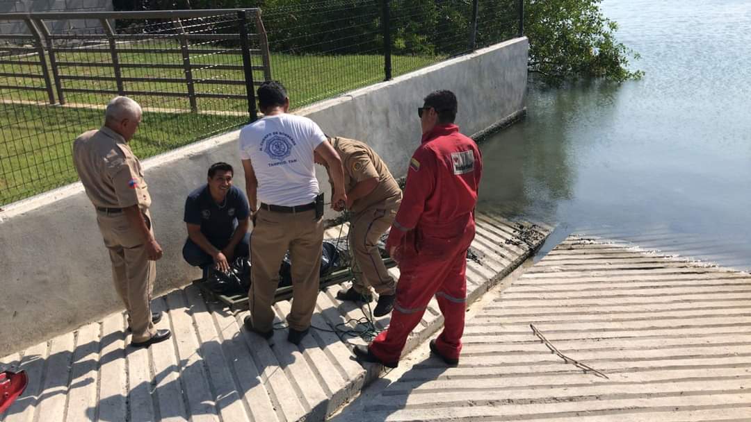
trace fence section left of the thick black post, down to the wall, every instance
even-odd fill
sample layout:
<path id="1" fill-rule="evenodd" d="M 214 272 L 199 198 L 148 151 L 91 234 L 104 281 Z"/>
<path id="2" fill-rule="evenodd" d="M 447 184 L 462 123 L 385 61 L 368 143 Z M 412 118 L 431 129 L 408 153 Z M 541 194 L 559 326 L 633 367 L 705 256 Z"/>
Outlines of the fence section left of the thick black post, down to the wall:
<path id="1" fill-rule="evenodd" d="M 97 19 L 54 31 L 61 20 Z M 71 142 L 115 95 L 144 108 L 134 149 L 149 157 L 255 115 L 270 79 L 259 10 L 0 15 L 0 204 L 75 181 Z M 246 71 L 247 70 L 247 71 Z"/>

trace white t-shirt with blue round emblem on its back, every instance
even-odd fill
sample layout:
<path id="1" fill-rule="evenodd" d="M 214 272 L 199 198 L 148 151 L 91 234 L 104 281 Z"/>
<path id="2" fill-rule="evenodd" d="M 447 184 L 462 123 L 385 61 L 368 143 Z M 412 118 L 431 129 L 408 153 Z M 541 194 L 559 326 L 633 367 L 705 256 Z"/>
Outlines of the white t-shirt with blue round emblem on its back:
<path id="1" fill-rule="evenodd" d="M 258 200 L 288 207 L 313 202 L 318 195 L 313 150 L 324 140 L 318 124 L 299 115 L 271 115 L 243 127 L 240 158 L 253 165 Z"/>

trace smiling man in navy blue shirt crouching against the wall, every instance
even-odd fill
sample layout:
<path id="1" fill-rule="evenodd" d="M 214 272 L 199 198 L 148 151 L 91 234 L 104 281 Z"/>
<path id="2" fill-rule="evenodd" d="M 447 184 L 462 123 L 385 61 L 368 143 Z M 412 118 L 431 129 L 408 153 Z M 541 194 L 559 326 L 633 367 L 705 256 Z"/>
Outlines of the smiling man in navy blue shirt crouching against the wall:
<path id="1" fill-rule="evenodd" d="M 214 163 L 208 183 L 185 200 L 183 221 L 188 226 L 188 240 L 182 257 L 203 268 L 204 277 L 212 264 L 228 271 L 233 259 L 250 256 L 248 200 L 242 190 L 232 186 L 233 176 L 228 163 Z"/>

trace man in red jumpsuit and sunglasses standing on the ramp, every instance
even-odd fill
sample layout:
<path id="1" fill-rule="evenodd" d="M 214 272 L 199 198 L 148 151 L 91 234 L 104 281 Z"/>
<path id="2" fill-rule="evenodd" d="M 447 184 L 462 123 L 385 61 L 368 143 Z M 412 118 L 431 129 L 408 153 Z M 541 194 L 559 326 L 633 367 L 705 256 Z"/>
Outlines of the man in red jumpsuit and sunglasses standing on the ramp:
<path id="1" fill-rule="evenodd" d="M 360 361 L 397 367 L 409 333 L 436 296 L 445 319 L 430 350 L 446 364 L 459 362 L 466 307 L 466 251 L 475 238 L 475 204 L 482 158 L 475 141 L 454 124 L 457 97 L 435 91 L 418 109 L 422 144 L 412 155 L 402 205 L 386 247 L 399 262 L 391 325 L 369 346 L 356 346 Z"/>

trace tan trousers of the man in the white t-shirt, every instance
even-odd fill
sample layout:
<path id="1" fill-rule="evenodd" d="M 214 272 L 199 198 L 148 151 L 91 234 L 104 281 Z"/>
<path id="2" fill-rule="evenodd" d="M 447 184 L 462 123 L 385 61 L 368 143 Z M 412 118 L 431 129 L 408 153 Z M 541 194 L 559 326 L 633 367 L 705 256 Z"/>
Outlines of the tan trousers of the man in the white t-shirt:
<path id="1" fill-rule="evenodd" d="M 252 265 L 248 297 L 253 328 L 273 329 L 271 306 L 279 286 L 279 267 L 287 250 L 292 266 L 292 309 L 287 322 L 297 331 L 310 327 L 320 286 L 323 241 L 323 219 L 315 220 L 315 210 L 294 214 L 258 210 L 250 238 Z"/>

